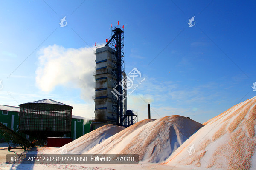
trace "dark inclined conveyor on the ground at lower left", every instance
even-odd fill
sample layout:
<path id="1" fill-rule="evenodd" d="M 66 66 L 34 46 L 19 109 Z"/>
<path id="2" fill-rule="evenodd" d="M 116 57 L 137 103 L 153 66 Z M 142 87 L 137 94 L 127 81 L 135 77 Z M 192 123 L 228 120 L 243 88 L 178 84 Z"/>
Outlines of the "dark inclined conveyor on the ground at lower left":
<path id="1" fill-rule="evenodd" d="M 26 148 L 34 146 L 34 144 L 32 142 L 30 142 L 28 139 L 24 138 L 23 136 L 21 136 L 19 133 L 15 132 L 14 130 L 10 129 L 9 127 L 7 127 L 6 125 L 3 125 L 2 123 L 0 123 L 0 133 L 5 137 L 6 142 L 8 143 L 9 147 L 8 147 L 8 151 L 11 150 L 11 146 L 9 144 L 9 142 L 7 141 L 7 138 L 9 137 L 9 139 L 12 140 L 12 142 L 17 143 L 20 145 L 20 147 L 22 147 L 25 151 Z"/>

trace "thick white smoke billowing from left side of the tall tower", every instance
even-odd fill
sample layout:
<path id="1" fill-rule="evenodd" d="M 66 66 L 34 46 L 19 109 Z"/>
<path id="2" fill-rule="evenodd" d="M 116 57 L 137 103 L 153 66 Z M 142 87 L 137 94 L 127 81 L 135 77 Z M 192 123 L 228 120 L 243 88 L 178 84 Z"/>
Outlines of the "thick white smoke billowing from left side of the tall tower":
<path id="1" fill-rule="evenodd" d="M 87 101 L 94 94 L 95 55 L 92 48 L 64 48 L 50 45 L 38 52 L 39 66 L 36 83 L 42 91 L 52 91 L 62 85 L 81 89 L 81 98 Z"/>

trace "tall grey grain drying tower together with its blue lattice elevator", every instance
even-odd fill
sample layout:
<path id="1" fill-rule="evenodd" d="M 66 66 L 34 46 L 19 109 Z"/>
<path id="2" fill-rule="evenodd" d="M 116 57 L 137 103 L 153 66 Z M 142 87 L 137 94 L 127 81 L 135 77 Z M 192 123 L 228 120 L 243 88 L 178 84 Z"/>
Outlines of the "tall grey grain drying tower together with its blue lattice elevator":
<path id="1" fill-rule="evenodd" d="M 96 54 L 95 76 L 95 127 L 106 124 L 119 126 L 132 125 L 127 122 L 126 74 L 124 69 L 124 30 L 119 25 L 111 27 L 111 39 L 98 46 Z M 137 116 L 137 115 L 134 115 Z"/>

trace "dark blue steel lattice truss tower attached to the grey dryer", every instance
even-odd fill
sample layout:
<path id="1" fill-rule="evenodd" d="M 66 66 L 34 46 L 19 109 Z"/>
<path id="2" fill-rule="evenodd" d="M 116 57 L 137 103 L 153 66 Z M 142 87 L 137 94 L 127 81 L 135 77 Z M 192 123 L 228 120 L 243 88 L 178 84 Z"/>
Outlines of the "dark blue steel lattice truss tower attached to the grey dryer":
<path id="1" fill-rule="evenodd" d="M 114 49 L 112 55 L 112 100 L 113 100 L 113 118 L 116 119 L 116 125 L 122 126 L 123 124 L 123 96 L 124 89 L 122 87 L 123 78 L 122 74 L 125 70 L 124 68 L 124 31 L 119 28 L 119 26 L 112 27 L 111 39 L 107 42 L 105 46 L 111 46 Z"/>

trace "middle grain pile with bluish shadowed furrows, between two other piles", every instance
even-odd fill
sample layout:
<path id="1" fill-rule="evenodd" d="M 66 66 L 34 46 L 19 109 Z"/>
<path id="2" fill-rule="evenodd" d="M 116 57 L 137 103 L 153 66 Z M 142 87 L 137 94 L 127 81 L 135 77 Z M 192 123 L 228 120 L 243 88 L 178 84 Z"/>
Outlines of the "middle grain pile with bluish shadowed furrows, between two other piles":
<path id="1" fill-rule="evenodd" d="M 145 124 L 148 120 L 127 127 L 83 154 L 139 154 L 139 161 L 161 162 L 204 126 L 183 116 L 166 116 Z"/>

